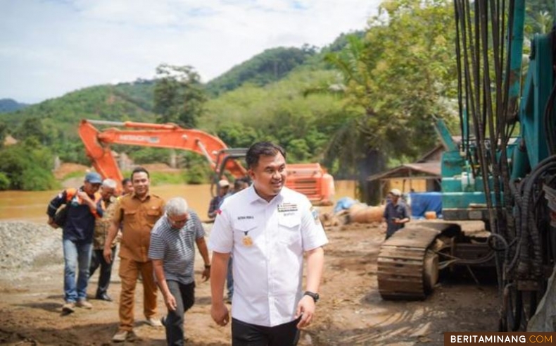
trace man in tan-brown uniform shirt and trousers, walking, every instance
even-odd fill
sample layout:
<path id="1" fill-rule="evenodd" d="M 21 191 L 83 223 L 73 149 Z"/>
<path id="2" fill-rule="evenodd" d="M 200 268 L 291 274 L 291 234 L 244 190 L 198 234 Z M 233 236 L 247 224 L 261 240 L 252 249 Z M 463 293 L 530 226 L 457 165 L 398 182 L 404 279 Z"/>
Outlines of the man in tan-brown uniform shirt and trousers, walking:
<path id="1" fill-rule="evenodd" d="M 139 273 L 143 278 L 144 314 L 146 322 L 153 327 L 162 326 L 155 318 L 156 283 L 153 278 L 153 263 L 147 257 L 151 242 L 151 230 L 158 218 L 164 214 L 164 200 L 149 192 L 149 172 L 135 168 L 131 175 L 134 192 L 118 200 L 113 223 L 104 244 L 104 259 L 111 261 L 112 241 L 122 224 L 120 245 L 120 327 L 113 336 L 115 342 L 123 342 L 133 336 L 134 293 Z"/>

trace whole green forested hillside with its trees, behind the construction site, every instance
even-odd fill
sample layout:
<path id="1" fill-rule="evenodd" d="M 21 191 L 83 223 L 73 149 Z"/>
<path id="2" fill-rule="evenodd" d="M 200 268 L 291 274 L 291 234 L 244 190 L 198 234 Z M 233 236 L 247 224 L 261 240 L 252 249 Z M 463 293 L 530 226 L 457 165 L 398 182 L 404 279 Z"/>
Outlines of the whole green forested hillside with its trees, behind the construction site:
<path id="1" fill-rule="evenodd" d="M 229 147 L 272 140 L 291 162 L 319 161 L 336 178 L 363 182 L 431 149 L 438 140 L 433 116 L 459 128 L 452 1 L 384 1 L 379 13 L 328 47 L 269 49 L 206 85 L 194 66 L 158 66 L 156 80 L 89 87 L 2 114 L 0 139 L 9 133 L 20 140 L 11 147 L 86 163 L 77 138 L 82 118 L 172 122 L 218 135 Z M 6 155 L 11 147 L 0 149 L 3 159 L 18 157 Z M 137 163 L 164 157 L 154 149 L 118 150 Z M 12 160 L 0 162 L 0 190 L 29 188 L 13 184 L 25 165 Z M 203 164 L 187 154 L 178 162 Z"/>

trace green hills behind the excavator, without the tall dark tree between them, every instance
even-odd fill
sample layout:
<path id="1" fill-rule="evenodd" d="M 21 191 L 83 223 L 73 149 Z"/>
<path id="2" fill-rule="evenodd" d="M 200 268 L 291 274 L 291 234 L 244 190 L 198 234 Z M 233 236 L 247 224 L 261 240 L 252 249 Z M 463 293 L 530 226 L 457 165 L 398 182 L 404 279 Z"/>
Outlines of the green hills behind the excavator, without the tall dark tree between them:
<path id="1" fill-rule="evenodd" d="M 268 49 L 235 66 L 205 85 L 211 97 L 206 114 L 198 119 L 198 128 L 216 133 L 230 147 L 244 147 L 257 139 L 277 140 L 292 149 L 294 161 L 315 161 L 334 129 L 318 125 L 319 117 L 339 112 L 339 103 L 330 96 L 305 98 L 303 92 L 315 84 L 334 82 L 335 74 L 327 71 L 323 56 L 345 44 L 345 35 L 341 35 L 320 52 L 315 47 Z M 2 114 L 0 135 L 10 134 L 20 142 L 32 140 L 62 161 L 88 163 L 77 136 L 80 121 L 156 123 L 155 85 L 155 80 L 136 80 L 78 89 Z M 281 130 L 277 124 L 284 117 L 289 124 Z M 242 125 L 246 123 L 249 125 Z M 303 138 L 305 131 L 310 133 Z M 114 149 L 124 150 L 137 159 L 141 155 L 160 159 L 147 148 L 114 146 Z"/>

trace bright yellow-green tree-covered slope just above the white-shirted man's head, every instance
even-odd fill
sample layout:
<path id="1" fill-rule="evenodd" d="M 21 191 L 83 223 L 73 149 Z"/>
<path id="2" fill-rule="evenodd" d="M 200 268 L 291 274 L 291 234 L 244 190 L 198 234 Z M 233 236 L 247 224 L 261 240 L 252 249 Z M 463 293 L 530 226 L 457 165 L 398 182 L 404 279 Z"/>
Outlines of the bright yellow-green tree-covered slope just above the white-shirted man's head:
<path id="1" fill-rule="evenodd" d="M 322 163 L 324 147 L 343 123 L 345 112 L 338 97 L 303 97 L 303 90 L 331 82 L 335 75 L 331 70 L 307 68 L 264 88 L 243 85 L 210 99 L 200 127 L 215 133 L 228 147 L 249 147 L 253 142 L 270 140 L 286 149 L 290 163 Z"/>

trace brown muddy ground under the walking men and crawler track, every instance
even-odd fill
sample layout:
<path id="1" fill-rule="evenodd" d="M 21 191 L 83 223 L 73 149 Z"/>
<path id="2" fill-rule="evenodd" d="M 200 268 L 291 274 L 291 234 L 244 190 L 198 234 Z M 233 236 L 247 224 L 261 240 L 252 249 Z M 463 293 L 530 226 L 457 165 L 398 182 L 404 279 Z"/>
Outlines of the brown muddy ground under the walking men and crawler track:
<path id="1" fill-rule="evenodd" d="M 56 231 L 53 231 L 56 232 Z M 443 277 L 422 302 L 386 302 L 377 289 L 377 255 L 384 230 L 377 225 L 328 228 L 330 244 L 321 300 L 299 345 L 443 345 L 445 331 L 496 331 L 495 285 Z M 24 254 L 23 254 L 24 255 Z M 3 256 L 3 255 L 0 255 Z M 196 304 L 186 314 L 187 345 L 230 345 L 229 326 L 210 319 L 210 288 L 201 283 L 203 262 L 196 261 Z M 115 302 L 91 299 L 94 309 L 61 315 L 63 264 L 42 254 L 32 266 L 0 273 L 0 344 L 110 345 L 118 328 L 120 281 L 116 262 L 109 294 Z M 91 278 L 94 295 L 98 273 Z M 142 288 L 136 292 L 135 332 L 125 345 L 165 345 L 163 328 L 144 323 Z M 165 307 L 159 295 L 159 314 Z M 123 345 L 123 344 L 120 344 Z"/>

